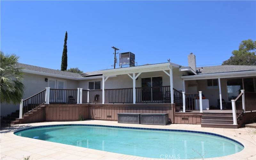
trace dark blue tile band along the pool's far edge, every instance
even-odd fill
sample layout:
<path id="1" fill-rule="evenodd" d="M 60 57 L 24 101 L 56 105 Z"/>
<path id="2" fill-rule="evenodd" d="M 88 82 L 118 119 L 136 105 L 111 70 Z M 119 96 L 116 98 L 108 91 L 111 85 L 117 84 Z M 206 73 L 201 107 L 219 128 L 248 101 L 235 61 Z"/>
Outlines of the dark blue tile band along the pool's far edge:
<path id="1" fill-rule="evenodd" d="M 21 130 L 17 130 L 13 132 L 13 134 L 25 130 L 30 130 L 30 129 L 35 129 L 35 128 L 45 128 L 45 127 L 59 127 L 59 126 L 97 126 L 97 127 L 112 127 L 112 128 L 127 128 L 127 129 L 139 129 L 139 130 L 151 130 L 151 131 L 171 131 L 171 132 L 188 132 L 188 133 L 201 133 L 201 134 L 206 134 L 206 135 L 212 135 L 212 136 L 217 136 L 221 137 L 227 140 L 231 140 L 233 142 L 238 143 L 239 145 L 243 146 L 242 143 L 240 143 L 237 140 L 234 140 L 232 138 L 216 134 L 216 133 L 211 133 L 211 132 L 202 132 L 202 131 L 191 131 L 191 130 L 178 130 L 178 129 L 162 129 L 162 128 L 144 128 L 144 127 L 124 127 L 124 126 L 114 126 L 114 125 L 100 125 L 100 124 L 55 124 L 55 125 L 40 125 L 40 126 L 35 126 L 35 127 L 29 127 Z M 26 137 L 28 138 L 28 137 Z M 96 149 L 97 150 L 97 149 Z"/>

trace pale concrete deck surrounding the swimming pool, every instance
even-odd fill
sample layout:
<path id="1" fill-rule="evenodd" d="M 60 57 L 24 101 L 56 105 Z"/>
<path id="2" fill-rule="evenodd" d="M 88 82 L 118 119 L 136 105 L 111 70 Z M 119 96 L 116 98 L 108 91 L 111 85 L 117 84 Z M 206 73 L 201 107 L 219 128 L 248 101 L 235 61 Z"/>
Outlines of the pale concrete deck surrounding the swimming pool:
<path id="1" fill-rule="evenodd" d="M 22 159 L 30 156 L 30 160 L 36 159 L 152 159 L 139 156 L 111 153 L 90 148 L 71 146 L 66 144 L 48 142 L 43 140 L 30 139 L 16 136 L 13 132 L 40 125 L 54 124 L 100 124 L 114 126 L 129 126 L 141 128 L 163 128 L 163 129 L 184 129 L 193 131 L 204 131 L 221 134 L 241 142 L 244 149 L 233 155 L 205 158 L 205 159 L 256 159 L 256 129 L 255 128 L 202 128 L 200 124 L 170 124 L 142 125 L 142 124 L 120 124 L 116 121 L 72 121 L 72 122 L 42 122 L 31 124 L 12 125 L 1 131 L 1 159 Z"/>

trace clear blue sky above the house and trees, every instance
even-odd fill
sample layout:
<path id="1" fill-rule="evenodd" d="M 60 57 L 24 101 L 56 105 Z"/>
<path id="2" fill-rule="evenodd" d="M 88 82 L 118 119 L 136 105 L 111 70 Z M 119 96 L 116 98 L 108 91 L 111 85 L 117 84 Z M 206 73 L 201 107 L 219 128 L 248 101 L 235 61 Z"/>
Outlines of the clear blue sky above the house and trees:
<path id="1" fill-rule="evenodd" d="M 111 68 L 112 46 L 138 65 L 187 66 L 227 60 L 256 40 L 256 1 L 1 1 L 1 51 L 20 62 L 60 69 L 65 31 L 68 68 Z"/>

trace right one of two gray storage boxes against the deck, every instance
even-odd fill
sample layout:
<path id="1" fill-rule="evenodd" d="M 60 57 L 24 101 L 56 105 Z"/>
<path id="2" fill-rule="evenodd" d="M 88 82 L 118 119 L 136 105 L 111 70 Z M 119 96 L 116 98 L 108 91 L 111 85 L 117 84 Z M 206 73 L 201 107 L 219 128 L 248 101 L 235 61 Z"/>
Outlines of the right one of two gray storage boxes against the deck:
<path id="1" fill-rule="evenodd" d="M 168 113 L 142 113 L 140 124 L 166 125 L 169 124 Z"/>

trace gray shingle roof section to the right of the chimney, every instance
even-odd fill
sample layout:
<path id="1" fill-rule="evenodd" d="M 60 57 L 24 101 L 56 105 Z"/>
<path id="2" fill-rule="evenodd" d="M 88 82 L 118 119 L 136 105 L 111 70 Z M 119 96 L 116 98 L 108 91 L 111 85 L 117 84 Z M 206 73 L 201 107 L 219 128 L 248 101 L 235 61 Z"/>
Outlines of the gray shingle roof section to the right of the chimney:
<path id="1" fill-rule="evenodd" d="M 242 71 L 256 71 L 256 66 L 242 66 L 242 65 L 221 65 L 221 66 L 209 66 L 209 67 L 197 67 L 200 69 L 198 75 L 213 74 L 213 73 L 228 73 L 228 72 L 242 72 Z"/>

